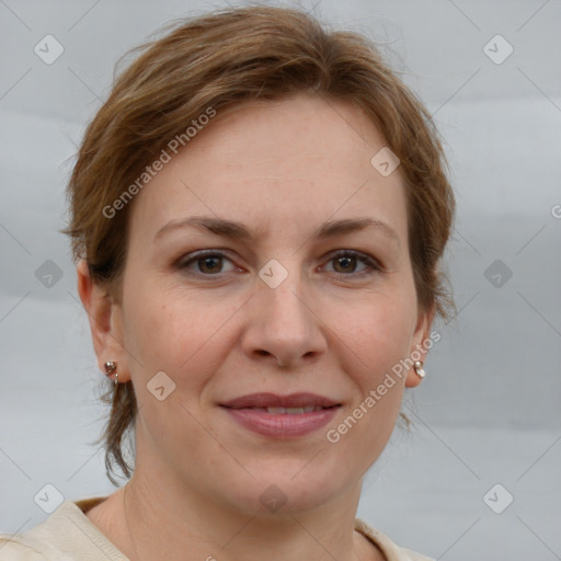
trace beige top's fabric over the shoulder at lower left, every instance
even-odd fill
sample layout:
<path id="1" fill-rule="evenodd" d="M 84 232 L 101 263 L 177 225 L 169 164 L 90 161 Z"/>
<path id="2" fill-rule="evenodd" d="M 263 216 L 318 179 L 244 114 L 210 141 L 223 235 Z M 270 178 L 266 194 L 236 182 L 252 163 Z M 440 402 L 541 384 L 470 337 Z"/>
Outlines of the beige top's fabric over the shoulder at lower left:
<path id="1" fill-rule="evenodd" d="M 44 523 L 13 536 L 0 534 L 1 561 L 126 561 L 88 519 L 83 504 L 103 497 L 64 502 Z"/>

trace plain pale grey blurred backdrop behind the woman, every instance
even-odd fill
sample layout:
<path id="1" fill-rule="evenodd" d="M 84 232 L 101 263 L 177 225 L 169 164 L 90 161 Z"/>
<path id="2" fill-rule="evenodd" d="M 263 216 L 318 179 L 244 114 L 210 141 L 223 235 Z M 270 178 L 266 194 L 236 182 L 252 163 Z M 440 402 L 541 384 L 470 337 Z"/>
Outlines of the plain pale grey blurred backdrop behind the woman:
<path id="1" fill-rule="evenodd" d="M 47 483 L 68 500 L 114 490 L 89 444 L 106 410 L 58 233 L 65 184 L 117 58 L 224 5 L 0 0 L 0 531 L 47 517 L 34 502 Z M 458 201 L 446 261 L 459 313 L 435 325 L 443 340 L 404 404 L 414 427 L 394 432 L 358 514 L 435 559 L 561 559 L 561 2 L 301 5 L 380 44 L 435 115 Z M 47 34 L 65 48 L 50 66 L 34 53 Z M 514 48 L 502 64 L 483 51 L 496 34 Z M 47 260 L 61 275 L 50 287 Z M 501 514 L 483 501 L 496 483 L 514 497 Z M 495 510 L 505 493 L 491 493 Z"/>

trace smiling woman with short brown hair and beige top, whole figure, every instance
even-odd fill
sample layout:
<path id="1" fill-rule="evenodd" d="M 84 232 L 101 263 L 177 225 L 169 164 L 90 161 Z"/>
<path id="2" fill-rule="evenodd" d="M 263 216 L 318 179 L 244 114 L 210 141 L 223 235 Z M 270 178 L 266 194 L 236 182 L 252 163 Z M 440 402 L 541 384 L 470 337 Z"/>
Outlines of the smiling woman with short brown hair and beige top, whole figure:
<path id="1" fill-rule="evenodd" d="M 355 516 L 446 311 L 443 162 L 375 48 L 302 12 L 147 45 L 85 133 L 67 229 L 129 481 L 2 559 L 428 559 Z"/>

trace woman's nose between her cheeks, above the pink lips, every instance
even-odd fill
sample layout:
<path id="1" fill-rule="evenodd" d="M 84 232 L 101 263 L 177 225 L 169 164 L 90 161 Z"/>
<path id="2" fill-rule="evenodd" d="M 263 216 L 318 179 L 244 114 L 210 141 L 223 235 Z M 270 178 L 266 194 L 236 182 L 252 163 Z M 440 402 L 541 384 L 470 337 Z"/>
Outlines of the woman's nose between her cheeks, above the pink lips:
<path id="1" fill-rule="evenodd" d="M 286 369 L 318 360 L 328 343 L 311 289 L 304 289 L 296 273 L 276 288 L 259 283 L 257 293 L 248 302 L 243 352 L 252 360 Z"/>

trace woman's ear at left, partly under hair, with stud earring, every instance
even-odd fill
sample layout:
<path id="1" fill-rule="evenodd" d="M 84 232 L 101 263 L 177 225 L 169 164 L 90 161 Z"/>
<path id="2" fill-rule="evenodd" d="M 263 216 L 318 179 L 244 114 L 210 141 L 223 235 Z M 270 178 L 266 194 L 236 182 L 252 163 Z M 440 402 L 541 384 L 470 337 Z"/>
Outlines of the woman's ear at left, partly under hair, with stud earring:
<path id="1" fill-rule="evenodd" d="M 84 260 L 78 263 L 76 272 L 78 294 L 90 321 L 98 367 L 105 375 L 104 364 L 107 360 L 116 362 L 118 381 L 128 381 L 130 374 L 126 367 L 127 356 L 123 344 L 123 309 L 103 287 L 92 280 Z"/>

